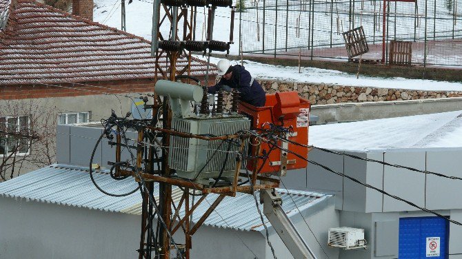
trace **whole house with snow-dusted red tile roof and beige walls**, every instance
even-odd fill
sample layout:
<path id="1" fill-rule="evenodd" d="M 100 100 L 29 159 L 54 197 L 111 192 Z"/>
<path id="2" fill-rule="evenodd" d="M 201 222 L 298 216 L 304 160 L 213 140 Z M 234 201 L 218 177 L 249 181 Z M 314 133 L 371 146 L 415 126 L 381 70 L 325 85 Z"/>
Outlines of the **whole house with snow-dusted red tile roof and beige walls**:
<path id="1" fill-rule="evenodd" d="M 54 163 L 57 123 L 100 121 L 112 110 L 124 116 L 168 76 L 156 69 L 167 59 L 156 65 L 150 41 L 93 22 L 92 1 L 73 4 L 76 15 L 0 0 L 0 181 Z M 203 79 L 205 63 L 188 56 L 177 71 L 188 63 Z"/>

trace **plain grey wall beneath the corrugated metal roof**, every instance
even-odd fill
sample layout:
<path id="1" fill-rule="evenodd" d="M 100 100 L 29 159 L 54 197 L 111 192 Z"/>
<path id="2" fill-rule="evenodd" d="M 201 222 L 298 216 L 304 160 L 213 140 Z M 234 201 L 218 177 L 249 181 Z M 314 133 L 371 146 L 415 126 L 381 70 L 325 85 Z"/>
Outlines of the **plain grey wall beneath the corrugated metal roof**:
<path id="1" fill-rule="evenodd" d="M 137 258 L 141 216 L 13 198 L 0 207 L 0 258 Z M 263 236 L 202 226 L 192 238 L 191 258 L 237 256 L 265 258 Z"/>

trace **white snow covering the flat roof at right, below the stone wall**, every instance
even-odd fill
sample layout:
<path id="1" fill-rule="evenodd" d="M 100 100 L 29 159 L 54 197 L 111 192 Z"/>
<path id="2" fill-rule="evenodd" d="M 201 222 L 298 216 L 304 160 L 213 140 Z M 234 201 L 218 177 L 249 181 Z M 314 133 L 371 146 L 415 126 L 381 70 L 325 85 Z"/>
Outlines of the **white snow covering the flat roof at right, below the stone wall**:
<path id="1" fill-rule="evenodd" d="M 462 111 L 310 127 L 310 145 L 367 151 L 462 147 Z"/>

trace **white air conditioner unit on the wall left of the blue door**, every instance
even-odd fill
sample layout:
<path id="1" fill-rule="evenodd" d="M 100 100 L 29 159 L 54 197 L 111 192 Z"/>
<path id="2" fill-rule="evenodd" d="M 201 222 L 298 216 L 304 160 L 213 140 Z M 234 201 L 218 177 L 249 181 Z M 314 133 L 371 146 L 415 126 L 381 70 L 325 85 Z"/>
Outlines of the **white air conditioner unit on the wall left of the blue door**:
<path id="1" fill-rule="evenodd" d="M 341 247 L 344 249 L 365 249 L 367 247 L 367 242 L 364 239 L 364 229 L 335 227 L 329 229 L 328 236 L 328 245 L 330 247 Z"/>

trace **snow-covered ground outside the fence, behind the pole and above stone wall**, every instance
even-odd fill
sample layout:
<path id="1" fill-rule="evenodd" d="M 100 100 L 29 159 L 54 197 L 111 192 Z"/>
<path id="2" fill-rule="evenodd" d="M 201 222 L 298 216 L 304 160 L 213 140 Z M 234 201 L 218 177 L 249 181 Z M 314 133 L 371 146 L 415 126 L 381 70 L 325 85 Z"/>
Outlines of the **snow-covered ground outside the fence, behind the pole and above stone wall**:
<path id="1" fill-rule="evenodd" d="M 95 0 L 94 21 L 106 24 L 110 27 L 121 28 L 121 3 L 120 0 Z M 206 9 L 198 8 L 197 15 L 197 39 L 204 39 L 203 21 Z M 229 40 L 229 8 L 218 8 L 215 16 L 214 39 L 220 41 Z M 236 16 L 237 22 L 234 27 L 234 39 L 238 42 L 239 37 L 239 15 Z M 167 25 L 167 24 L 165 24 Z M 151 39 L 152 30 L 152 0 L 134 0 L 126 5 L 126 27 L 127 32 Z M 161 28 L 164 36 L 168 35 L 168 26 Z M 238 53 L 238 45 L 231 45 L 231 53 Z M 201 58 L 201 56 L 199 56 Z M 217 63 L 219 59 L 211 59 L 212 63 Z M 356 79 L 354 74 L 339 72 L 335 70 L 323 70 L 319 68 L 299 68 L 267 65 L 252 61 L 244 61 L 245 68 L 250 71 L 254 78 L 277 79 L 285 81 L 300 81 L 307 83 L 334 83 L 339 85 L 365 86 L 365 87 L 385 87 L 410 90 L 441 90 L 459 91 L 462 90 L 460 83 L 439 82 L 419 79 L 403 78 L 378 78 L 360 75 Z M 237 63 L 237 62 L 236 62 Z"/>

